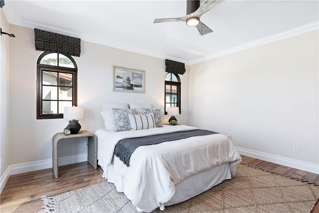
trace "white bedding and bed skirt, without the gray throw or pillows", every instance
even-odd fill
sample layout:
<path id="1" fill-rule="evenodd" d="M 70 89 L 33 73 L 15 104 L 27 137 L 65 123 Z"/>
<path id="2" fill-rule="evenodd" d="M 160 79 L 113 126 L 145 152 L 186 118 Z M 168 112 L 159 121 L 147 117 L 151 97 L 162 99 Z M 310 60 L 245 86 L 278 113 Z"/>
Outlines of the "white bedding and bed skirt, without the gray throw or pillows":
<path id="1" fill-rule="evenodd" d="M 103 178 L 114 183 L 118 192 L 124 192 L 139 212 L 152 212 L 183 202 L 234 177 L 241 157 L 230 139 L 222 134 L 140 146 L 132 153 L 129 166 L 114 155 L 117 143 L 123 139 L 197 129 L 163 125 L 135 131 L 97 130 L 98 164 Z"/>

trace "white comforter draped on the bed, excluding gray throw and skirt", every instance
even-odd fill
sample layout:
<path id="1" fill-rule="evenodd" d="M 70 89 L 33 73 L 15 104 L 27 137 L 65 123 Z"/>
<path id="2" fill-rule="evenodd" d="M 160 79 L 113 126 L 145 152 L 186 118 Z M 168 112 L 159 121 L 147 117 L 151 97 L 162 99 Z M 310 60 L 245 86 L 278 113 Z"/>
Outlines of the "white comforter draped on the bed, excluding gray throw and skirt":
<path id="1" fill-rule="evenodd" d="M 111 165 L 119 140 L 193 129 L 198 128 L 178 125 L 105 134 L 105 137 L 98 138 L 98 159 L 104 168 L 103 177 L 107 177 L 107 167 Z M 152 212 L 170 200 L 175 193 L 174 185 L 226 162 L 230 163 L 234 176 L 241 157 L 229 138 L 213 134 L 140 146 L 131 156 L 130 167 L 122 162 L 116 163 L 114 172 L 124 177 L 124 193 L 132 204 L 140 210 Z"/>

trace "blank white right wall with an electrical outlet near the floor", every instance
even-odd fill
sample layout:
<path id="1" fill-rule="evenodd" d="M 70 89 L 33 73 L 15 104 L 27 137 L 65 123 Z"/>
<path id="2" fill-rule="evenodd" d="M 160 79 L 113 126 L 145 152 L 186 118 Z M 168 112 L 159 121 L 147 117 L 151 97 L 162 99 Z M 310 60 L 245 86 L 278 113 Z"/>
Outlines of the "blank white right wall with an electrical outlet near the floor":
<path id="1" fill-rule="evenodd" d="M 318 49 L 315 30 L 190 65 L 189 124 L 318 165 Z"/>

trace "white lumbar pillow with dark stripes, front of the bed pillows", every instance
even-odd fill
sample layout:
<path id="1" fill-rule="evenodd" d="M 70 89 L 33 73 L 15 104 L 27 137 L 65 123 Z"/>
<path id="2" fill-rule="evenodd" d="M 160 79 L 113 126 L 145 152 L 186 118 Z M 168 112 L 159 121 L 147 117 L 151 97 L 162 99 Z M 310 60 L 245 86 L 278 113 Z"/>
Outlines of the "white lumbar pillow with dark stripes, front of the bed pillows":
<path id="1" fill-rule="evenodd" d="M 131 130 L 142 130 L 155 128 L 154 114 L 128 114 Z"/>

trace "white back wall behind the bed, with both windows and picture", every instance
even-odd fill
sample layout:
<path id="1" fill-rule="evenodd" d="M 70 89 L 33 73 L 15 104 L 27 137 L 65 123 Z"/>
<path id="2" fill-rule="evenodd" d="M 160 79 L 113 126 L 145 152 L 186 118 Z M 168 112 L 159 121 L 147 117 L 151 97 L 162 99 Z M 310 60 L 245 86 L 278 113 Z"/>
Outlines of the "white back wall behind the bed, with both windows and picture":
<path id="1" fill-rule="evenodd" d="M 62 132 L 68 119 L 36 120 L 36 61 L 42 51 L 35 50 L 34 31 L 11 25 L 15 33 L 10 43 L 10 161 L 20 164 L 52 158 L 52 136 Z M 107 39 L 107 38 L 106 38 Z M 95 132 L 104 127 L 102 103 L 152 103 L 163 112 L 165 63 L 163 59 L 128 52 L 86 41 L 81 42 L 78 65 L 78 106 L 84 107 L 82 130 Z M 145 71 L 145 93 L 112 91 L 112 65 Z M 187 124 L 188 74 L 182 82 L 182 113 L 177 117 Z M 167 116 L 163 120 L 168 120 Z M 80 139 L 81 140 L 81 139 Z M 85 141 L 59 144 L 59 156 L 84 154 Z"/>

